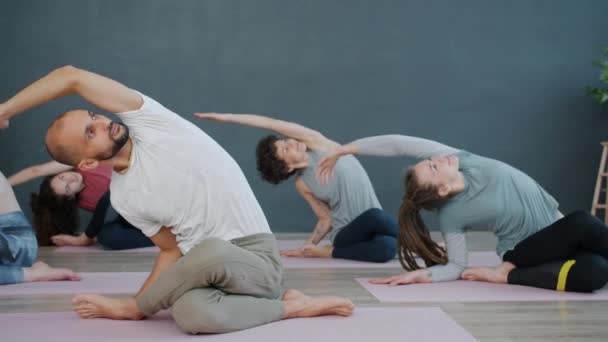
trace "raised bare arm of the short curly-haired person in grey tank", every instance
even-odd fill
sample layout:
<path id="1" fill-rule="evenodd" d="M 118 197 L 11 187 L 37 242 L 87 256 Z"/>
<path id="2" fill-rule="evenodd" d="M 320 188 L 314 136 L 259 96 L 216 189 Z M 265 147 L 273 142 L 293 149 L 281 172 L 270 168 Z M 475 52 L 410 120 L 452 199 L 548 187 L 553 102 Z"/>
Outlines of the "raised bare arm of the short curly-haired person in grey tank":
<path id="1" fill-rule="evenodd" d="M 286 137 L 302 141 L 311 149 L 327 150 L 337 147 L 338 144 L 327 139 L 323 134 L 300 124 L 273 119 L 255 114 L 217 114 L 196 113 L 198 118 L 211 119 L 219 122 L 236 123 L 245 126 L 267 129 Z"/>

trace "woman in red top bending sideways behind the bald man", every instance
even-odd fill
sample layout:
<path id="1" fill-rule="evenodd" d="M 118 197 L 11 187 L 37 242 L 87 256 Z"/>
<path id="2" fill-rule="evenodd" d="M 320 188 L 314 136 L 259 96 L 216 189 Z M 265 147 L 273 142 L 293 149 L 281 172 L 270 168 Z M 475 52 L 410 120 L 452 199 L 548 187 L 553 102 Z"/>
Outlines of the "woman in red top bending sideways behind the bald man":
<path id="1" fill-rule="evenodd" d="M 39 192 L 30 196 L 34 227 L 41 246 L 88 246 L 95 241 L 112 250 L 152 246 L 152 241 L 122 218 L 110 205 L 112 168 L 72 169 L 51 161 L 9 177 L 11 185 L 44 176 Z M 78 208 L 93 213 L 78 234 Z"/>

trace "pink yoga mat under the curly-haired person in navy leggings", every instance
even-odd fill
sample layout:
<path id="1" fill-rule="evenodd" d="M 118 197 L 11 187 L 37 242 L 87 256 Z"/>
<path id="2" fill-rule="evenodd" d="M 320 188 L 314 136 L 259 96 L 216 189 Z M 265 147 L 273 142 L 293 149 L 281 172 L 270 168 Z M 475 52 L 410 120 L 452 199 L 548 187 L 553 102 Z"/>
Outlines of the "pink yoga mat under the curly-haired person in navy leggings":
<path id="1" fill-rule="evenodd" d="M 363 262 L 345 259 L 283 257 L 285 268 L 401 268 L 399 260 L 389 262 Z M 500 258 L 495 252 L 469 252 L 470 266 L 496 266 Z"/>

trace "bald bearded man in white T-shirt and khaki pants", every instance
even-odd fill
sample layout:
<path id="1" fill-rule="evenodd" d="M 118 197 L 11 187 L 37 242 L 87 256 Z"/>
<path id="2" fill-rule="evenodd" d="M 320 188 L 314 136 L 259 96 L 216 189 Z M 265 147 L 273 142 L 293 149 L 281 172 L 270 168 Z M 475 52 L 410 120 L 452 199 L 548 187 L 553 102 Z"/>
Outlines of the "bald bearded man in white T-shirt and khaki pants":
<path id="1" fill-rule="evenodd" d="M 101 75 L 66 66 L 0 105 L 14 115 L 77 94 L 124 123 L 89 110 L 60 115 L 47 130 L 56 161 L 111 165 L 112 206 L 160 248 L 133 297 L 79 295 L 83 318 L 141 319 L 172 308 L 189 333 L 222 333 L 273 321 L 348 316 L 351 301 L 282 289 L 276 240 L 237 163 L 198 127 L 152 98 Z"/>

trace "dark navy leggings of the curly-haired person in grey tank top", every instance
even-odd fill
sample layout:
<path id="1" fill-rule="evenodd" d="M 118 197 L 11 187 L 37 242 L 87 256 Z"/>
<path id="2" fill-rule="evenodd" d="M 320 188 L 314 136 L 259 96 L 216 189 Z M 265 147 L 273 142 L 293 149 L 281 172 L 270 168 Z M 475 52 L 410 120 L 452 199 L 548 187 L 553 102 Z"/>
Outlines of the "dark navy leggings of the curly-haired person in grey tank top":
<path id="1" fill-rule="evenodd" d="M 387 262 L 397 253 L 397 221 L 373 208 L 357 216 L 336 235 L 332 257 Z"/>

